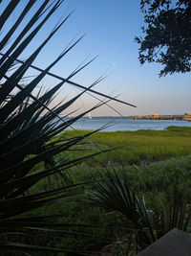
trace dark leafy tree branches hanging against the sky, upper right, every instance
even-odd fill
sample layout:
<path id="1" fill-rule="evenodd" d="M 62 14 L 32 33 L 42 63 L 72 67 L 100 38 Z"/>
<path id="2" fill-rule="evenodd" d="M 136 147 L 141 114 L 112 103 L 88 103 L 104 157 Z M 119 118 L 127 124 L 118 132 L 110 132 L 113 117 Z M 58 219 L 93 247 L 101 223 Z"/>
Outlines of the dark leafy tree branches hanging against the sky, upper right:
<path id="1" fill-rule="evenodd" d="M 136 37 L 139 61 L 159 62 L 159 76 L 191 71 L 191 1 L 141 0 L 144 37 Z"/>

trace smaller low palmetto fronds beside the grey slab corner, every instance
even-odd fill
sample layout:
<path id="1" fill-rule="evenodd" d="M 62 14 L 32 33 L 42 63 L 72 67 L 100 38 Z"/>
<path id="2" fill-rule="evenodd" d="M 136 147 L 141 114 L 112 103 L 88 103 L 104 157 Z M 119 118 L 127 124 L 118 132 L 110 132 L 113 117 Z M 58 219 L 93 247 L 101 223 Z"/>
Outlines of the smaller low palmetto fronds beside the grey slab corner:
<path id="1" fill-rule="evenodd" d="M 126 230 L 129 241 L 125 246 L 127 255 L 133 251 L 138 253 L 174 227 L 190 230 L 191 205 L 186 188 L 182 190 L 172 184 L 165 191 L 156 189 L 156 193 L 158 199 L 155 196 L 152 200 L 150 195 L 152 202 L 148 206 L 146 195 L 144 198 L 143 193 L 132 189 L 125 171 L 107 172 L 94 185 L 90 202 L 119 213 L 126 223 L 122 228 Z"/>

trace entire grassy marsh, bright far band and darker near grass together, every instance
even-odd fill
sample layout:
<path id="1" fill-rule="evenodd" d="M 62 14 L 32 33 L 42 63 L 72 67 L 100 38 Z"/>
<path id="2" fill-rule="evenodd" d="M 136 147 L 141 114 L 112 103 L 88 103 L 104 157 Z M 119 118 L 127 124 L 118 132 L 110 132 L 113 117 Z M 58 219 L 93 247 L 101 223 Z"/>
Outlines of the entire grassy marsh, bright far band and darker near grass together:
<path id="1" fill-rule="evenodd" d="M 65 138 L 74 135 L 75 132 L 85 133 L 85 131 L 67 131 L 59 137 Z M 121 242 L 121 236 L 124 237 L 124 231 L 121 231 L 121 225 L 124 227 L 123 220 L 117 213 L 109 213 L 88 202 L 89 192 L 93 189 L 91 181 L 100 178 L 100 174 L 103 175 L 106 169 L 113 172 L 114 167 L 116 170 L 125 170 L 132 187 L 146 193 L 150 204 L 158 198 L 159 193 L 173 183 L 178 184 L 180 189 L 182 186 L 186 187 L 187 193 L 190 194 L 188 190 L 191 182 L 191 128 L 97 132 L 92 135 L 91 141 L 93 142 L 91 144 L 85 141 L 84 144 L 78 145 L 74 151 L 68 152 L 67 157 L 74 158 L 95 152 L 96 147 L 102 150 L 120 148 L 100 154 L 72 168 L 67 175 L 68 178 L 74 183 L 88 184 L 69 192 L 68 199 L 61 205 L 44 207 L 38 209 L 38 212 L 42 215 L 57 213 L 59 221 L 63 223 L 89 224 L 96 227 L 68 228 L 72 232 L 89 234 L 90 237 L 71 234 L 57 238 L 42 238 L 36 243 L 93 251 L 101 251 L 105 245 L 110 244 L 109 250 L 114 255 L 120 255 L 118 251 L 124 246 Z M 60 176 L 53 176 L 50 182 L 52 186 L 66 183 Z M 50 182 L 41 181 L 32 190 L 38 190 L 42 186 L 49 187 Z"/>

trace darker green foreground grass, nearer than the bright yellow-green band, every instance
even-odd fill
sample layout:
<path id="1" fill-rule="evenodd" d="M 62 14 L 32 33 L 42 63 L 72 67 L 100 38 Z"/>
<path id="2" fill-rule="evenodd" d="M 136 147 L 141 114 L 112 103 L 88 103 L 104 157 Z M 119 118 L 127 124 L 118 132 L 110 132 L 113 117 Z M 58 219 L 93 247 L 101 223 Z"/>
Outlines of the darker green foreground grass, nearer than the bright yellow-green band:
<path id="1" fill-rule="evenodd" d="M 116 171 L 121 171 L 117 167 Z M 140 194 L 144 193 L 145 200 L 149 209 L 159 211 L 161 209 L 160 199 L 164 197 L 167 189 L 177 184 L 177 190 L 181 191 L 182 187 L 187 190 L 189 198 L 191 183 L 191 156 L 182 156 L 180 158 L 171 158 L 156 163 L 151 163 L 146 167 L 135 169 L 133 166 L 126 165 L 125 173 L 128 175 L 129 182 L 135 191 Z M 113 170 L 110 169 L 112 173 Z M 97 180 L 100 174 L 104 175 L 104 168 L 92 168 L 87 164 L 83 165 L 82 170 L 71 170 L 71 178 L 75 183 Z M 55 178 L 55 177 L 54 177 Z M 36 190 L 43 185 L 49 186 L 46 180 L 44 184 L 39 184 Z M 54 182 L 56 180 L 54 179 Z M 62 181 L 63 182 L 63 181 Z M 115 212 L 109 212 L 101 207 L 90 205 L 87 200 L 89 193 L 94 190 L 93 185 L 80 187 L 78 196 L 60 201 L 60 204 L 52 207 L 43 207 L 36 211 L 38 215 L 57 214 L 57 221 L 63 223 L 87 224 L 89 227 L 69 227 L 71 232 L 81 232 L 89 234 L 90 237 L 76 236 L 74 234 L 60 237 L 38 238 L 35 243 L 64 248 L 67 244 L 69 249 L 100 251 L 105 245 L 110 244 L 110 251 L 116 251 L 118 243 L 123 244 L 128 240 L 128 234 L 131 227 L 121 215 Z M 70 197 L 70 195 L 68 195 Z M 35 215 L 36 212 L 34 211 Z M 95 226 L 96 225 L 96 226 Z M 91 237 L 92 236 L 92 237 Z M 127 244 L 126 244 L 127 245 Z"/>

